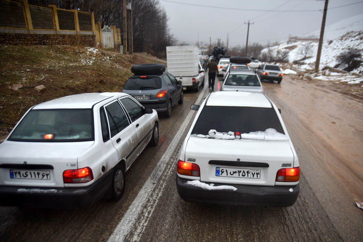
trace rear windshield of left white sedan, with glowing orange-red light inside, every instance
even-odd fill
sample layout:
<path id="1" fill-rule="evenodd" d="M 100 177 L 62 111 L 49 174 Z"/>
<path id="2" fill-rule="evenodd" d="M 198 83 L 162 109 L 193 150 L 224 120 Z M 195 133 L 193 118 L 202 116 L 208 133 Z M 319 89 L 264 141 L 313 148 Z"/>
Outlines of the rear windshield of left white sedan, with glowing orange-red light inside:
<path id="1" fill-rule="evenodd" d="M 8 140 L 90 141 L 94 140 L 91 109 L 30 110 Z"/>

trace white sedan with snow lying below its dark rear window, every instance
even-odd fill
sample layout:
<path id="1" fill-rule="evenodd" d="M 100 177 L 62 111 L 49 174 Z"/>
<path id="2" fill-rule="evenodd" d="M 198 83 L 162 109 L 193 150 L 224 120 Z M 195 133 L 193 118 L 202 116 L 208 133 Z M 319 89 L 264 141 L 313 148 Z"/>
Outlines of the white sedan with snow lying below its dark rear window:
<path id="1" fill-rule="evenodd" d="M 189 202 L 291 206 L 299 160 L 281 115 L 263 93 L 219 91 L 199 107 L 179 152 L 176 186 Z"/>

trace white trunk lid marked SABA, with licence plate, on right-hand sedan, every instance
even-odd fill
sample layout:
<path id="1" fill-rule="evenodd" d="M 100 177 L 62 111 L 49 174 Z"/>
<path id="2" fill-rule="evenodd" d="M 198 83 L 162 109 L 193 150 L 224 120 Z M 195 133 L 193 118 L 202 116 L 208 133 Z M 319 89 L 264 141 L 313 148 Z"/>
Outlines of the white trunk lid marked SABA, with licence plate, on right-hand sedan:
<path id="1" fill-rule="evenodd" d="M 266 140 L 263 135 L 249 135 L 256 139 L 233 139 L 231 134 L 231 140 L 227 136 L 211 139 L 191 135 L 185 160 L 195 159 L 202 182 L 273 186 L 281 164 L 294 161 L 290 143 L 288 139 Z"/>

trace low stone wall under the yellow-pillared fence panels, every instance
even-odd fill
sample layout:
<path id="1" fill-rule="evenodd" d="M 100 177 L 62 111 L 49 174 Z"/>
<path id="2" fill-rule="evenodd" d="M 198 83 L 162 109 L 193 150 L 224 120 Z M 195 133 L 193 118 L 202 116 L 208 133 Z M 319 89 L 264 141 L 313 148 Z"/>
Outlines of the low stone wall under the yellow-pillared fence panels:
<path id="1" fill-rule="evenodd" d="M 95 46 L 95 36 L 88 34 L 15 34 L 0 33 L 5 45 L 82 45 Z"/>

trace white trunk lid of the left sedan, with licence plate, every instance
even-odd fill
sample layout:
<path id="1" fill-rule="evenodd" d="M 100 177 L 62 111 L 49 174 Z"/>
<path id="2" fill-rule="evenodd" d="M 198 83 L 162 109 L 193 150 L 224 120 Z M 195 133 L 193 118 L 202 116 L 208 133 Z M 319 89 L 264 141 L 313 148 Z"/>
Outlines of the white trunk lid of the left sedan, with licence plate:
<path id="1" fill-rule="evenodd" d="M 63 172 L 78 169 L 78 156 L 93 143 L 4 141 L 0 145 L 0 184 L 64 187 Z"/>

